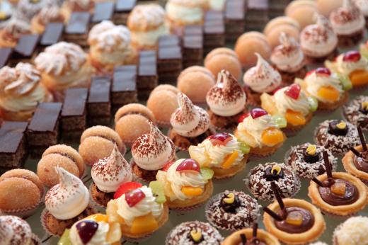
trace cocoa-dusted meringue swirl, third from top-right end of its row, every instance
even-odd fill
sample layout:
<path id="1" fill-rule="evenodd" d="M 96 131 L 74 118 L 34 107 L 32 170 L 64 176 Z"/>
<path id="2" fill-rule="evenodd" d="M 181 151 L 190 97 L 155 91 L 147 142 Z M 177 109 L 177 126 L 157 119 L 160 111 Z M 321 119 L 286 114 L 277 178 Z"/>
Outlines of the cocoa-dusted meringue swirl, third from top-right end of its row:
<path id="1" fill-rule="evenodd" d="M 304 54 L 299 43 L 286 33 L 279 37 L 280 45 L 275 47 L 271 55 L 271 62 L 283 72 L 297 72 L 304 67 Z"/>

